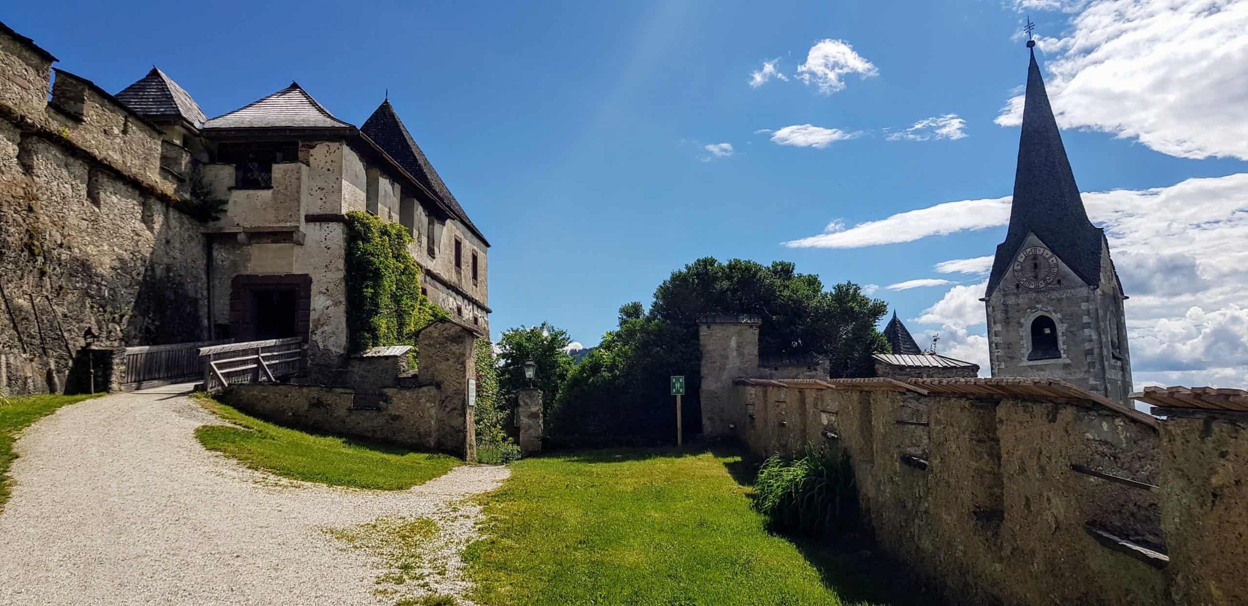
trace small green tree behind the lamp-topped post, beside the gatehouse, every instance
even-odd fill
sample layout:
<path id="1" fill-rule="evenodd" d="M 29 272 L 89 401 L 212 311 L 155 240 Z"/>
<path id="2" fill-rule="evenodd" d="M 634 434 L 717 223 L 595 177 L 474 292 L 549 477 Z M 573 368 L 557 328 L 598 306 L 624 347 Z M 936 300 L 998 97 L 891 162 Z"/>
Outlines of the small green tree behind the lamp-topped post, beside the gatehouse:
<path id="1" fill-rule="evenodd" d="M 524 378 L 525 360 L 537 363 L 533 387 L 542 390 L 543 408 L 550 409 L 573 367 L 572 355 L 567 352 L 569 343 L 568 332 L 549 322 L 503 332 L 498 342 L 498 390 L 508 409 L 515 406 L 519 390 L 529 387 L 529 380 Z"/>

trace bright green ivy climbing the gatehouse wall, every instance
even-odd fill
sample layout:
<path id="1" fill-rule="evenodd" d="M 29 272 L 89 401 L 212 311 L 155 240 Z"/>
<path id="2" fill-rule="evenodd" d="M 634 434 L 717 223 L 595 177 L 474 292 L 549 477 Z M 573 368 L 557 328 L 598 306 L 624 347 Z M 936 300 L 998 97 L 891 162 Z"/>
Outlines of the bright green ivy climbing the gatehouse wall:
<path id="1" fill-rule="evenodd" d="M 347 213 L 347 330 L 352 353 L 416 345 L 417 330 L 449 314 L 421 294 L 412 234 L 367 212 Z M 412 350 L 416 362 L 416 350 Z"/>

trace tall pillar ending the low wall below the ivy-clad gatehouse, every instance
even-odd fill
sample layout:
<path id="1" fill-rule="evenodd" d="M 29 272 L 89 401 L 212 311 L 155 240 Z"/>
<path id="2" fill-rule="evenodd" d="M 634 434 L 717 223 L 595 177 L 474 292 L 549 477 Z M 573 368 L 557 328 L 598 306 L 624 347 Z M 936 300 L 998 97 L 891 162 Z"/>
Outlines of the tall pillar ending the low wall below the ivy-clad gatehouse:
<path id="1" fill-rule="evenodd" d="M 477 332 L 449 318 L 421 329 L 421 383 L 438 389 L 433 410 L 434 448 L 477 461 Z M 469 402 L 469 397 L 470 402 Z"/>

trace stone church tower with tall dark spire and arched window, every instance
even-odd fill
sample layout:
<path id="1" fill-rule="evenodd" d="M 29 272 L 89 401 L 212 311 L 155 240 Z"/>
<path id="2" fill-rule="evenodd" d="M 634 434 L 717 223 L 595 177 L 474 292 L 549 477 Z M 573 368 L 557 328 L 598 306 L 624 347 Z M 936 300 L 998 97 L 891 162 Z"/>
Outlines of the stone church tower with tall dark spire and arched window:
<path id="1" fill-rule="evenodd" d="M 1126 297 L 1104 231 L 1088 221 L 1027 41 L 1031 65 L 1010 229 L 985 304 L 993 377 L 1062 379 L 1112 400 L 1131 393 Z"/>

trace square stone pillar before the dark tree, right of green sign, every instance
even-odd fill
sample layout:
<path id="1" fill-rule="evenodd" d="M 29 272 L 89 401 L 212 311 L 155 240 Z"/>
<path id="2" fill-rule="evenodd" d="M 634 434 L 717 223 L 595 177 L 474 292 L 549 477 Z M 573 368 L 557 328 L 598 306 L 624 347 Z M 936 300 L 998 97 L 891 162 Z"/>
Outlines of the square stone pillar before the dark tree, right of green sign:
<path id="1" fill-rule="evenodd" d="M 703 435 L 744 435 L 745 406 L 735 398 L 733 380 L 759 372 L 759 327 L 763 319 L 748 314 L 706 314 L 698 318 L 701 347 Z"/>

